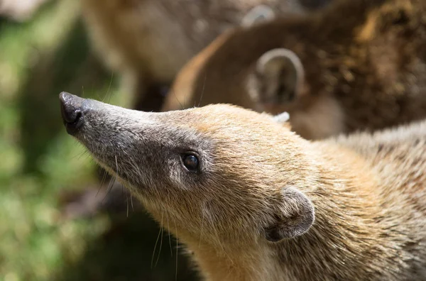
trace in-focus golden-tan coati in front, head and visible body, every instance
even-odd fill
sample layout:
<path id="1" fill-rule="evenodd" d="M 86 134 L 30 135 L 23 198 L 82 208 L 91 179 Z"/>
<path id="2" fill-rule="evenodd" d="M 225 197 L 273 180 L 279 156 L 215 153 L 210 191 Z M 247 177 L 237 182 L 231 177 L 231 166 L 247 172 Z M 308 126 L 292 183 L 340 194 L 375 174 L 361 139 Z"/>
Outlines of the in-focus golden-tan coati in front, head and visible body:
<path id="1" fill-rule="evenodd" d="M 426 121 L 311 142 L 236 106 L 146 113 L 61 99 L 72 136 L 207 280 L 426 280 Z M 179 160 L 188 150 L 197 172 Z"/>

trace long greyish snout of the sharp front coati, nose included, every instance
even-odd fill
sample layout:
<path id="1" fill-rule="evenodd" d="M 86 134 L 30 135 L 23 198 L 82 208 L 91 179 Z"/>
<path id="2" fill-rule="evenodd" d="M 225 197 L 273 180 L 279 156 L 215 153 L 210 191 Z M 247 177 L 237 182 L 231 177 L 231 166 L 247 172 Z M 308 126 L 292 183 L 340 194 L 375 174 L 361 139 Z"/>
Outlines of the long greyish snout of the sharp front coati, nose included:
<path id="1" fill-rule="evenodd" d="M 102 167 L 136 185 L 143 180 L 141 171 L 145 180 L 156 178 L 151 175 L 151 159 L 158 158 L 155 153 L 174 140 L 166 113 L 124 109 L 67 92 L 60 93 L 59 99 L 67 133 Z"/>

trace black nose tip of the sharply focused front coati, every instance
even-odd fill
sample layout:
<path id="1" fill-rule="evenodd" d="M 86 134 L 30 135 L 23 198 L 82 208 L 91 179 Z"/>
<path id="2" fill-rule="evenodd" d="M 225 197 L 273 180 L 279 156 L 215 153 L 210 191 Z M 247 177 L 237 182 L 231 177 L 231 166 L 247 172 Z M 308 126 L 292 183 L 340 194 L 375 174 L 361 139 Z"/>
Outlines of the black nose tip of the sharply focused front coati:
<path id="1" fill-rule="evenodd" d="M 84 99 L 67 92 L 59 94 L 62 120 L 68 133 L 75 133 L 83 124 L 82 105 Z"/>

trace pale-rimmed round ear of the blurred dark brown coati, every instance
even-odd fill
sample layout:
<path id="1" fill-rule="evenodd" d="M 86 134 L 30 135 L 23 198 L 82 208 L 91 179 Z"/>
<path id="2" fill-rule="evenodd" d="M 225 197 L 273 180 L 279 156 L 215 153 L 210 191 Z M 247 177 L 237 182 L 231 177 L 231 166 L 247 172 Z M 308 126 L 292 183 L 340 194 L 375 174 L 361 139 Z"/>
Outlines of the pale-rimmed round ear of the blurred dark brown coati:
<path id="1" fill-rule="evenodd" d="M 293 101 L 302 92 L 305 71 L 299 57 L 291 50 L 268 50 L 256 62 L 256 72 L 264 85 L 260 100 L 282 104 Z"/>

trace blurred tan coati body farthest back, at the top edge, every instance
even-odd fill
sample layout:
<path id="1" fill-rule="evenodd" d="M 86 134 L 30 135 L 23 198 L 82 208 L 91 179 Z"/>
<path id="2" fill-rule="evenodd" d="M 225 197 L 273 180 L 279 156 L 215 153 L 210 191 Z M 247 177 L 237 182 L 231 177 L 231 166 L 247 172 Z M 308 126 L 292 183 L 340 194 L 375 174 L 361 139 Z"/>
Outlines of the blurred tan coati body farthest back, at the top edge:
<path id="1" fill-rule="evenodd" d="M 136 107 L 158 110 L 161 85 L 258 5 L 305 13 L 331 0 L 81 0 L 90 38 L 111 70 L 124 76 Z"/>

